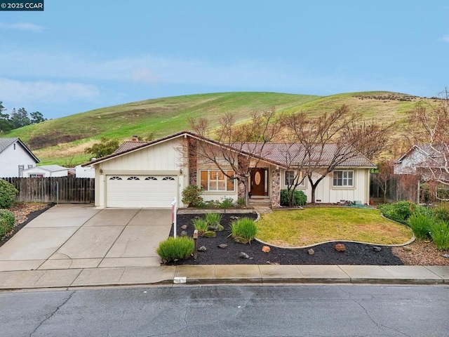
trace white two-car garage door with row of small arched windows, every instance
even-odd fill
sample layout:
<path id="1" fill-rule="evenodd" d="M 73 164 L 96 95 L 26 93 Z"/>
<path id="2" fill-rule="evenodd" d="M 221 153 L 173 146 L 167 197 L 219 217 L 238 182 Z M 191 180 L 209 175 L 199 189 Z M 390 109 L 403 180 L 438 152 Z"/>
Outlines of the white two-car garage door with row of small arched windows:
<path id="1" fill-rule="evenodd" d="M 176 176 L 107 176 L 107 207 L 170 207 Z"/>

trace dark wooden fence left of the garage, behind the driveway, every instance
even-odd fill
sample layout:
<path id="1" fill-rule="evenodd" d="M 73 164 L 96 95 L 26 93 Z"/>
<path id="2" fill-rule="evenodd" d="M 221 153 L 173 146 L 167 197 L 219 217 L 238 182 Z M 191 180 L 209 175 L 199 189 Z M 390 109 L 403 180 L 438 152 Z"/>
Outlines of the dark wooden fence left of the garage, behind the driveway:
<path id="1" fill-rule="evenodd" d="M 95 202 L 95 179 L 91 178 L 2 178 L 19 191 L 17 201 L 69 203 Z"/>

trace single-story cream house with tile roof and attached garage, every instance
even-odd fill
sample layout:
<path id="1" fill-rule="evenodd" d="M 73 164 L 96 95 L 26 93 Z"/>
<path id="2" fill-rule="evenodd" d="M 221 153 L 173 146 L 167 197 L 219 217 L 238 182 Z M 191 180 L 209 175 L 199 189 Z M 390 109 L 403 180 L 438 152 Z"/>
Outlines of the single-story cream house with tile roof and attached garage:
<path id="1" fill-rule="evenodd" d="M 121 152 L 83 164 L 95 169 L 95 206 L 170 207 L 173 197 L 177 198 L 178 206 L 185 206 L 180 201 L 181 192 L 192 184 L 203 187 L 203 199 L 206 201 L 224 197 L 236 201 L 243 197 L 244 189 L 237 186 L 236 180 L 227 178 L 214 164 L 203 164 L 194 152 L 190 152 L 191 146 L 197 146 L 196 142 L 225 146 L 182 131 L 128 149 L 122 147 Z M 280 190 L 286 188 L 286 181 L 293 175 L 286 170 L 287 165 L 279 154 L 280 149 L 285 149 L 285 144 L 267 143 L 266 146 L 267 149 L 258 158 L 246 150 L 230 150 L 239 152 L 241 163 L 249 163 L 252 197 L 267 199 L 273 207 L 279 207 Z M 326 148 L 326 152 L 331 153 L 332 146 Z M 370 169 L 375 167 L 362 155 L 349 159 L 319 183 L 316 201 L 359 201 L 368 204 Z M 304 190 L 310 200 L 311 189 L 307 181 L 298 189 Z"/>

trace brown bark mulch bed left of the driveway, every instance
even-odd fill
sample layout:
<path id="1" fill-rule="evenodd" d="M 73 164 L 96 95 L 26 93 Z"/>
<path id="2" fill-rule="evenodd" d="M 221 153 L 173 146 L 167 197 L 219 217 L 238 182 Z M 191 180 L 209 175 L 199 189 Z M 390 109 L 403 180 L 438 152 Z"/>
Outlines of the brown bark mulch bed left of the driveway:
<path id="1" fill-rule="evenodd" d="M 0 237 L 0 247 L 11 239 L 15 233 L 27 225 L 29 221 L 33 220 L 36 216 L 39 216 L 54 205 L 55 204 L 46 204 L 41 202 L 20 202 L 13 204 L 11 209 L 8 209 L 8 211 L 13 212 L 15 216 L 15 224 L 11 232 L 8 232 L 4 237 Z"/>

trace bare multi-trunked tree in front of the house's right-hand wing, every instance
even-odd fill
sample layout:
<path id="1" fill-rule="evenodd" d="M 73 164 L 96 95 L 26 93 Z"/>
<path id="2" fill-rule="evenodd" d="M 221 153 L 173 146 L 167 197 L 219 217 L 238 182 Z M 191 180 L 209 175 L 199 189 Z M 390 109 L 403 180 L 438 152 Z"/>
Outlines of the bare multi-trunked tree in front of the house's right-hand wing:
<path id="1" fill-rule="evenodd" d="M 362 116 L 342 105 L 331 113 L 309 119 L 305 112 L 286 114 L 283 126 L 290 132 L 291 145 L 285 152 L 288 170 L 301 175 L 288 190 L 295 189 L 307 177 L 311 186 L 311 202 L 321 180 L 349 159 L 368 159 L 387 145 L 391 126 L 363 123 Z M 293 198 L 293 193 L 289 197 Z M 289 201 L 290 204 L 290 201 Z"/>

